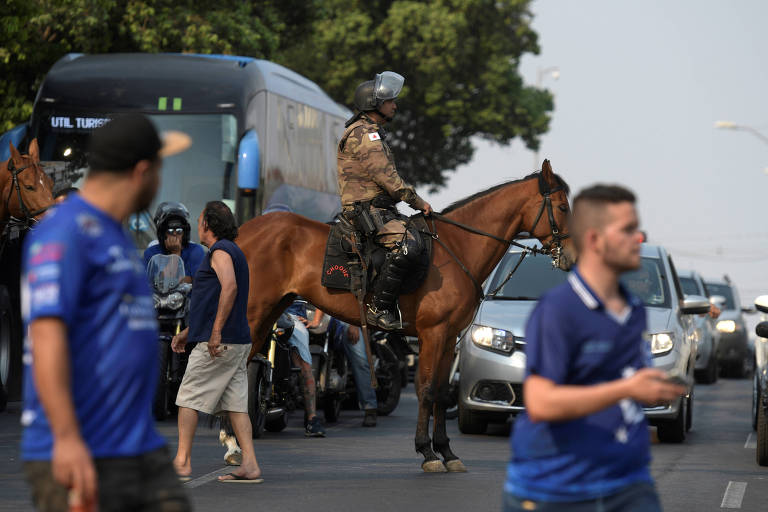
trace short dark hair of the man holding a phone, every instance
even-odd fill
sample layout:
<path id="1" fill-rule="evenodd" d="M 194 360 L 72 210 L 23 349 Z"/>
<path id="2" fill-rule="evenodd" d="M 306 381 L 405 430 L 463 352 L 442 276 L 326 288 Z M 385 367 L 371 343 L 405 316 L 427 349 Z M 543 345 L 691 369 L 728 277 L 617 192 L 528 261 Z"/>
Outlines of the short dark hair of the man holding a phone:
<path id="1" fill-rule="evenodd" d="M 587 229 L 602 227 L 605 223 L 605 207 L 618 203 L 635 204 L 635 194 L 621 185 L 597 184 L 576 195 L 569 226 L 576 252 L 581 252 L 581 239 Z"/>

